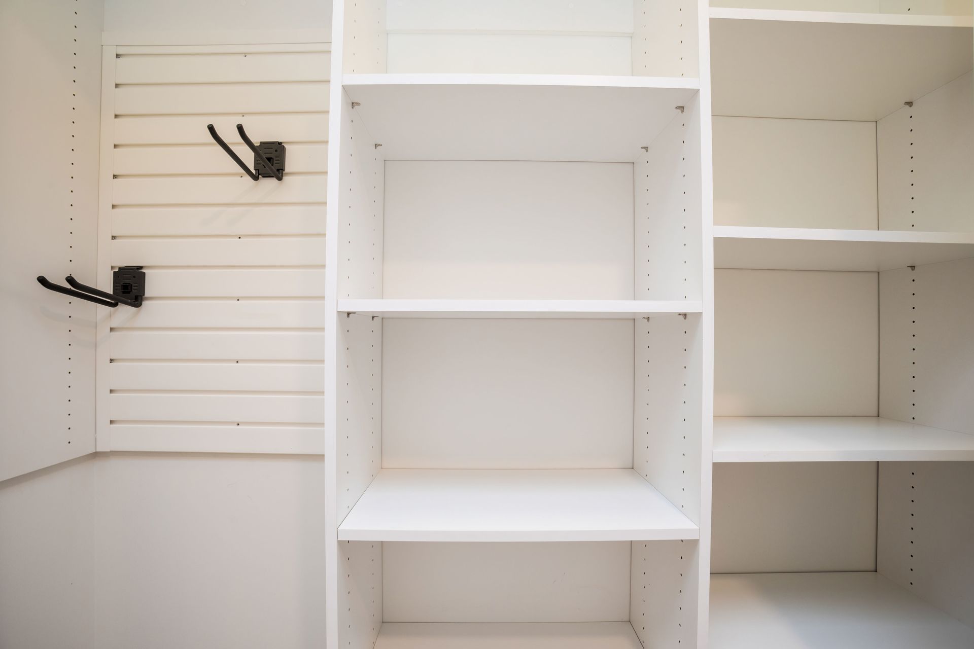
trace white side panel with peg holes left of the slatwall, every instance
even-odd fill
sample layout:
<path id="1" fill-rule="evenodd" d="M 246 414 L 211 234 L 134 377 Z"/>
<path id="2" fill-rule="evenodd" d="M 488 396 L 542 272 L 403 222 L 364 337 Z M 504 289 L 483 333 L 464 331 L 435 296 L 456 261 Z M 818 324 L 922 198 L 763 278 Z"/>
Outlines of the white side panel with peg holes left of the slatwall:
<path id="1" fill-rule="evenodd" d="M 94 451 L 100 2 L 0 6 L 0 480 Z"/>

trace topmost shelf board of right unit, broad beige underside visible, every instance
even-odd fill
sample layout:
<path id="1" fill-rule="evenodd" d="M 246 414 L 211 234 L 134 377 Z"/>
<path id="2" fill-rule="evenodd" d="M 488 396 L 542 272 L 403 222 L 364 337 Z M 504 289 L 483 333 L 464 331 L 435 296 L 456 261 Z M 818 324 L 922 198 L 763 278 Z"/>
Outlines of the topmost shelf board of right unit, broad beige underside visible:
<path id="1" fill-rule="evenodd" d="M 714 115 L 874 122 L 974 67 L 970 17 L 710 17 Z"/>

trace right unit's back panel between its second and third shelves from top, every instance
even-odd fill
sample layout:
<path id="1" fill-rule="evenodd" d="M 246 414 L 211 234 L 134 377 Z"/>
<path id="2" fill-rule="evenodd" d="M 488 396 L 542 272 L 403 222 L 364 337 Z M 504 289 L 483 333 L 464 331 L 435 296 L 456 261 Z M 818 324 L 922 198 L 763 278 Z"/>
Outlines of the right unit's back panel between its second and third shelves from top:
<path id="1" fill-rule="evenodd" d="M 876 416 L 875 272 L 717 270 L 715 416 Z"/>

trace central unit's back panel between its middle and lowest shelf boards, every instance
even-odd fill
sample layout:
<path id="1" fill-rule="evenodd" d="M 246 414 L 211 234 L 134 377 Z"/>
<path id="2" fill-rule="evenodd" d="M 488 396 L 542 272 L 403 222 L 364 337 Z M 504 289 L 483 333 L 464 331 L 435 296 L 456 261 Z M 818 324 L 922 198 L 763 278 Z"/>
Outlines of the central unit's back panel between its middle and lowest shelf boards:
<path id="1" fill-rule="evenodd" d="M 631 467 L 632 328 L 386 319 L 383 466 Z"/>

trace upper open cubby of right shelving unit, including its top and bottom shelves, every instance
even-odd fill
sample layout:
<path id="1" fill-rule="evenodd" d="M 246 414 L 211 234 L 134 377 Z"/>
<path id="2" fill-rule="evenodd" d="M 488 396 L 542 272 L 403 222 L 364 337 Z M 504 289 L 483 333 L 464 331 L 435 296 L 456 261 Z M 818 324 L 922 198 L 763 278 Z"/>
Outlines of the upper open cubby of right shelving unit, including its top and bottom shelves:
<path id="1" fill-rule="evenodd" d="M 971 18 L 778 4 L 711 10 L 716 266 L 974 255 Z"/>

